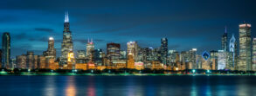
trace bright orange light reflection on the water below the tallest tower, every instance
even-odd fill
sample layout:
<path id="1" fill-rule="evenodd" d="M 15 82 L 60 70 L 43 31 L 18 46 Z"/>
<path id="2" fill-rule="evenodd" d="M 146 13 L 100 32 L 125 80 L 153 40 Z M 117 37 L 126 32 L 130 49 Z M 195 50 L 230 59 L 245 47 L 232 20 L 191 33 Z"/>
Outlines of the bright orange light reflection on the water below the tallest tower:
<path id="1" fill-rule="evenodd" d="M 66 87 L 66 96 L 75 96 L 76 95 L 76 86 L 74 84 L 75 76 L 69 76 L 67 79 L 67 87 Z"/>

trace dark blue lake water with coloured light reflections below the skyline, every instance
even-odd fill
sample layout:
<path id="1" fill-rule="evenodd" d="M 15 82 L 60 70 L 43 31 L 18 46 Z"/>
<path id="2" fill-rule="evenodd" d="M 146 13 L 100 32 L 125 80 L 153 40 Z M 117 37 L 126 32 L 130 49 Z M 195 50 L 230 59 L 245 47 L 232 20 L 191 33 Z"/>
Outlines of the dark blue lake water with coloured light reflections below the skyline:
<path id="1" fill-rule="evenodd" d="M 255 96 L 256 76 L 0 76 L 0 96 Z"/>

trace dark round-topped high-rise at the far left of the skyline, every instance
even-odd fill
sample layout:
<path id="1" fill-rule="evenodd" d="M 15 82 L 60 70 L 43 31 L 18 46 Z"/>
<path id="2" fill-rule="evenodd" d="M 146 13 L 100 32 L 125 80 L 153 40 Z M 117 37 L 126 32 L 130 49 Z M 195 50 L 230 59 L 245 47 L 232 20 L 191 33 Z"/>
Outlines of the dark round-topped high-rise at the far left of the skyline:
<path id="1" fill-rule="evenodd" d="M 10 34 L 4 32 L 2 39 L 2 68 L 10 68 Z"/>

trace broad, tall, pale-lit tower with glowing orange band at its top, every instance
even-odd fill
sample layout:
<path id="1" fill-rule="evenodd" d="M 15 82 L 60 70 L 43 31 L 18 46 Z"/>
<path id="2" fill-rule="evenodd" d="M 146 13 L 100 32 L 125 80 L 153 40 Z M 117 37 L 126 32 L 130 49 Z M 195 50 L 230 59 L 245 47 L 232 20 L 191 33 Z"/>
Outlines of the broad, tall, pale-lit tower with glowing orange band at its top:
<path id="1" fill-rule="evenodd" d="M 251 24 L 239 24 L 239 64 L 238 70 L 252 70 Z"/>

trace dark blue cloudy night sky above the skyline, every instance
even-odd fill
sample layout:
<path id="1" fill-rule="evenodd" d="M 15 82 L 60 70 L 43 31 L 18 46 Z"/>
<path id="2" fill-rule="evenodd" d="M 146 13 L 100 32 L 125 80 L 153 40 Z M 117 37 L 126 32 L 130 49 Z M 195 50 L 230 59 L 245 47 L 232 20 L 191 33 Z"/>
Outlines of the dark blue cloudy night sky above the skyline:
<path id="1" fill-rule="evenodd" d="M 252 23 L 255 36 L 255 0 L 5 0 L 0 3 L 0 32 L 10 32 L 12 57 L 32 50 L 42 54 L 49 36 L 60 54 L 65 11 L 69 12 L 74 49 L 85 49 L 87 38 L 95 48 L 107 42 L 137 41 L 142 48 L 218 50 L 225 26 L 238 36 L 239 23 Z M 1 40 L 2 42 L 2 40 Z M 198 53 L 199 54 L 199 53 Z"/>

